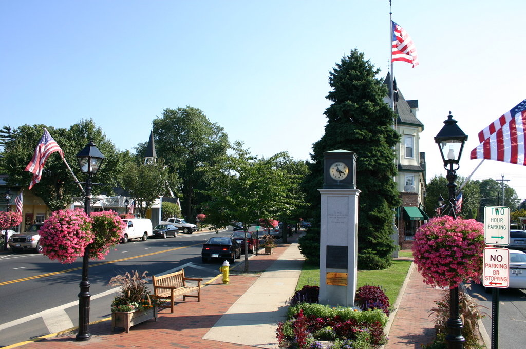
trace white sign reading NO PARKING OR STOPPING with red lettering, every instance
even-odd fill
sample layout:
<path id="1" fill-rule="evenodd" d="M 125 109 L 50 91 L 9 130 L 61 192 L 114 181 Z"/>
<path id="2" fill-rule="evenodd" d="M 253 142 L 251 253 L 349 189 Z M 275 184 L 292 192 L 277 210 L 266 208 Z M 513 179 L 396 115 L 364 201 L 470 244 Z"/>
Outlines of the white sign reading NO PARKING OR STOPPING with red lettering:
<path id="1" fill-rule="evenodd" d="M 484 248 L 484 268 L 482 284 L 486 287 L 505 289 L 510 280 L 510 250 L 502 248 Z"/>

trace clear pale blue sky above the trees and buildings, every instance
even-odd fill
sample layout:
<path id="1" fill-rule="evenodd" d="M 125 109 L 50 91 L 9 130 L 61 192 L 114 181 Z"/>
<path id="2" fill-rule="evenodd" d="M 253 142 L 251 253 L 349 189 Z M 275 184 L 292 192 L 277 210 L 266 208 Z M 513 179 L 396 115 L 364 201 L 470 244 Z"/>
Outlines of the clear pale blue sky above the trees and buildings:
<path id="1" fill-rule="evenodd" d="M 505 5 L 505 6 L 504 6 Z M 469 136 L 526 98 L 526 3 L 394 0 L 420 65 L 395 63 L 418 99 L 427 177 L 445 175 L 433 137 L 449 111 Z M 192 106 L 251 152 L 309 159 L 324 131 L 329 71 L 357 48 L 388 71 L 389 1 L 0 0 L 0 126 L 67 128 L 93 118 L 120 150 L 147 141 L 165 108 Z M 526 198 L 526 168 L 485 161 Z"/>

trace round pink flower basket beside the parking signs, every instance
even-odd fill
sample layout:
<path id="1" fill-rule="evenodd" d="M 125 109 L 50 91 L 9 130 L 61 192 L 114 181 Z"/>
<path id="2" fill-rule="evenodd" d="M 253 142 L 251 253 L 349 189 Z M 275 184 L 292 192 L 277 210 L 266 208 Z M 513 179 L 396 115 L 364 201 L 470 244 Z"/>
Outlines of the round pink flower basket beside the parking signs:
<path id="1" fill-rule="evenodd" d="M 461 282 L 480 283 L 484 227 L 474 219 L 434 217 L 414 235 L 413 256 L 428 285 L 454 288 Z"/>

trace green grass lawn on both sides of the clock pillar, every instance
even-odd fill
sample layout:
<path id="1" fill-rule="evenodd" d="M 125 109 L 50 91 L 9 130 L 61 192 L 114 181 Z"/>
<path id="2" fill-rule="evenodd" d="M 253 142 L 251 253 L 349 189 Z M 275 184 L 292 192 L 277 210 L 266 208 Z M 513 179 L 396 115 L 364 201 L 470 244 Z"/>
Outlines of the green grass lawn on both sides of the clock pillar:
<path id="1" fill-rule="evenodd" d="M 358 288 L 363 285 L 379 286 L 389 297 L 389 303 L 393 305 L 410 266 L 411 261 L 395 260 L 385 270 L 358 270 L 357 286 Z M 304 285 L 318 286 L 319 284 L 319 266 L 304 263 L 296 290 L 301 290 Z"/>

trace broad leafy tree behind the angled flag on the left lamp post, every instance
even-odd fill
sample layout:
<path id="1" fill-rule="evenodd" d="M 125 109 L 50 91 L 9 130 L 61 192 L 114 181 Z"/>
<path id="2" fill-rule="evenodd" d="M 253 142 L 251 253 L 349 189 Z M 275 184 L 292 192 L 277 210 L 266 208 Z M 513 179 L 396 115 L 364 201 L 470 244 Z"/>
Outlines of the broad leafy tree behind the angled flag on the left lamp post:
<path id="1" fill-rule="evenodd" d="M 89 140 L 93 140 L 106 160 L 95 177 L 95 182 L 103 184 L 93 186 L 92 193 L 96 195 L 101 192 L 113 192 L 119 169 L 117 151 L 92 119 L 80 120 L 69 129 L 55 129 L 42 124 L 33 126 L 26 124 L 12 130 L 12 137 L 5 138 L 4 153 L 0 158 L 2 162 L 0 168 L 4 168 L 9 175 L 9 184 L 28 186 L 31 182 L 33 174 L 24 169 L 33 157 L 35 147 L 44 134 L 44 128 L 47 128 L 50 135 L 62 148 L 64 158 L 80 181 L 86 180 L 86 175 L 78 169 L 76 155 Z M 64 209 L 75 200 L 75 197 L 82 196 L 82 191 L 57 152 L 49 156 L 41 181 L 35 184 L 31 191 L 42 198 L 52 211 Z"/>

